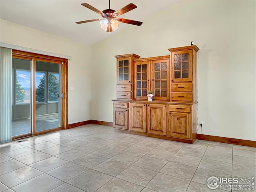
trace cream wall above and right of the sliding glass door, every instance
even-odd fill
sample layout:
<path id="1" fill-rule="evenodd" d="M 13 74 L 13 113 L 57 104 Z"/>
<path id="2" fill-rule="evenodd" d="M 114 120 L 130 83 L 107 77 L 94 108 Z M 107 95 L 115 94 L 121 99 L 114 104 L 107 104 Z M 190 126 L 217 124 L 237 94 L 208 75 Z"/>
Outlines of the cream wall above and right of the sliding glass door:
<path id="1" fill-rule="evenodd" d="M 0 20 L 0 41 L 71 56 L 68 60 L 68 124 L 91 119 L 91 46 Z"/>

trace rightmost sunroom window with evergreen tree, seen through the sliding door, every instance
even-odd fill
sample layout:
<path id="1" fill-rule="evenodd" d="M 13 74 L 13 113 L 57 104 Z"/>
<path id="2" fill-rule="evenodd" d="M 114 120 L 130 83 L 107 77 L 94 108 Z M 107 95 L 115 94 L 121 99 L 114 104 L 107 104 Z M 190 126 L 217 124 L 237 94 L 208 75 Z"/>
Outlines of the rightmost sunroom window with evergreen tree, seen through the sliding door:
<path id="1" fill-rule="evenodd" d="M 59 74 L 49 73 L 48 76 L 48 100 L 58 101 Z"/>

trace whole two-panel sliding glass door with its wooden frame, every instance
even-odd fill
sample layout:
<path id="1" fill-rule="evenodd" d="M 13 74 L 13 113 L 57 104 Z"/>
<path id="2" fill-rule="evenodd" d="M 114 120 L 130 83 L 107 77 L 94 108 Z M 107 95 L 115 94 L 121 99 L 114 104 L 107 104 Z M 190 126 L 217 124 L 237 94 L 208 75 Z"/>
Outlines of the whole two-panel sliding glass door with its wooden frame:
<path id="1" fill-rule="evenodd" d="M 66 128 L 66 64 L 13 54 L 12 139 Z"/>

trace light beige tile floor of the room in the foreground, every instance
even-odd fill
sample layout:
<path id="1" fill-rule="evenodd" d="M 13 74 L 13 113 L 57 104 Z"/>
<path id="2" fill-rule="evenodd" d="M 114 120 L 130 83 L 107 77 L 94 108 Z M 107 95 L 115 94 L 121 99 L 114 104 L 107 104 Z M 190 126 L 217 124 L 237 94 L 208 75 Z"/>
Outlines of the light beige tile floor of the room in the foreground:
<path id="1" fill-rule="evenodd" d="M 227 192 L 210 176 L 255 177 L 255 148 L 185 144 L 89 124 L 0 148 L 0 192 Z"/>

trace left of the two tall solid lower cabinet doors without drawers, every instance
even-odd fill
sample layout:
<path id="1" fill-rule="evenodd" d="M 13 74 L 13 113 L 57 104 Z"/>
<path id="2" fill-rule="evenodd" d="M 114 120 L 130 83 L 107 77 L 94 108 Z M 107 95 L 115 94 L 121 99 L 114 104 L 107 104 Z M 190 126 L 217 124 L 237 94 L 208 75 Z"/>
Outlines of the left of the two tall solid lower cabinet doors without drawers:
<path id="1" fill-rule="evenodd" d="M 130 103 L 129 130 L 146 132 L 146 104 Z"/>

